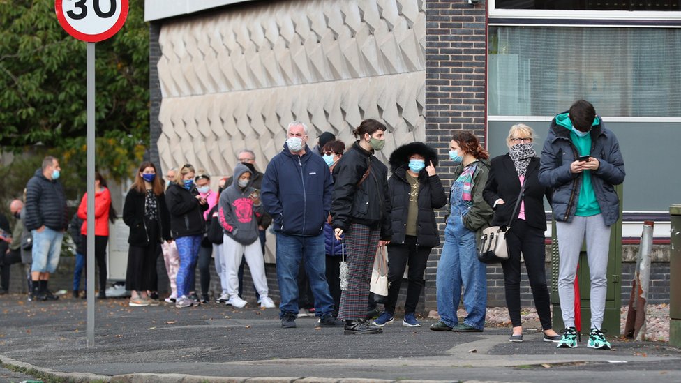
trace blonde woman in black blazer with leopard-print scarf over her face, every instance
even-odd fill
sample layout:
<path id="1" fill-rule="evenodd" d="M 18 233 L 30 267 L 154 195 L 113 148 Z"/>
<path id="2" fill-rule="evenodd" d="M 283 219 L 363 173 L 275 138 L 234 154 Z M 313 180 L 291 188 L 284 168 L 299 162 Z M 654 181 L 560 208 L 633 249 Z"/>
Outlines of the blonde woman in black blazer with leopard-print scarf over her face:
<path id="1" fill-rule="evenodd" d="M 507 236 L 509 260 L 502 263 L 506 304 L 513 324 L 513 333 L 509 340 L 523 341 L 520 292 L 522 253 L 532 287 L 534 306 L 537 307 L 539 321 L 544 329 L 544 341 L 557 342 L 560 335 L 551 327 L 551 300 L 546 287 L 544 261 L 546 257 L 544 195 L 551 200 L 548 190 L 539 184 L 539 157 L 532 147 L 533 140 L 534 130 L 529 126 L 523 123 L 511 126 L 507 137 L 509 153 L 492 159 L 483 197 L 495 211 L 492 225 L 508 225 L 509 220 L 511 221 L 511 230 Z M 523 200 L 518 210 L 514 212 L 523 182 L 525 183 Z"/>

